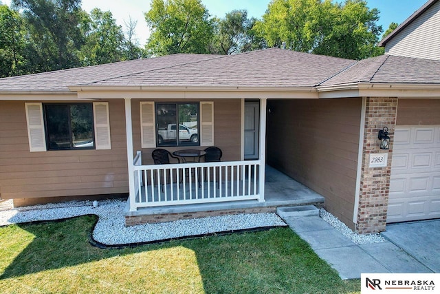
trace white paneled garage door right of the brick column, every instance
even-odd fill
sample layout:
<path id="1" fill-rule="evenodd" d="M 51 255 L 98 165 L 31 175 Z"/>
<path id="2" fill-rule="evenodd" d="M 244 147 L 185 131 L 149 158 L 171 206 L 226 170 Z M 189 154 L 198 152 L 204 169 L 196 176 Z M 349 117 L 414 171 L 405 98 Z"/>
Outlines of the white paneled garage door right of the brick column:
<path id="1" fill-rule="evenodd" d="M 440 218 L 440 126 L 396 127 L 387 222 L 429 218 Z"/>

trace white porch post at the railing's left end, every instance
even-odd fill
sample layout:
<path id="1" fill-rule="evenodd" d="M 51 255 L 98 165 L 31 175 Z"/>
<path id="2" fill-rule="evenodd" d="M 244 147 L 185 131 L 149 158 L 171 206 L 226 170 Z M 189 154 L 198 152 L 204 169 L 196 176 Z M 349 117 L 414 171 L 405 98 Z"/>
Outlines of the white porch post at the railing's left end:
<path id="1" fill-rule="evenodd" d="M 131 98 L 125 101 L 125 132 L 126 132 L 126 159 L 129 166 L 129 204 L 130 211 L 136 211 L 135 207 L 135 175 L 133 169 L 133 127 L 131 121 Z"/>

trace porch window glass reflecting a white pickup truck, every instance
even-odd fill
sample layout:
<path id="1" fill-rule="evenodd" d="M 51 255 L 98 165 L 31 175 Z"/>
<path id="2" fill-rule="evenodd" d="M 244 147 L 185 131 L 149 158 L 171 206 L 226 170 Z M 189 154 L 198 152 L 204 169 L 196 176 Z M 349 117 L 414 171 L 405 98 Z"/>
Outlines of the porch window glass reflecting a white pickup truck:
<path id="1" fill-rule="evenodd" d="M 199 146 L 199 103 L 156 103 L 156 143 Z"/>

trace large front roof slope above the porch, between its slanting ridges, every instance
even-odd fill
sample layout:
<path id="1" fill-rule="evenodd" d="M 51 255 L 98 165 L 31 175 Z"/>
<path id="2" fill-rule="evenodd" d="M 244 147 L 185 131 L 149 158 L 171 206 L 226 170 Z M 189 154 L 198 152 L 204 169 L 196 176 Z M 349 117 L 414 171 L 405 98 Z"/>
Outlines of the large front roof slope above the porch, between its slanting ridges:
<path id="1" fill-rule="evenodd" d="M 89 85 L 313 87 L 353 63 L 349 59 L 272 48 L 148 70 Z"/>

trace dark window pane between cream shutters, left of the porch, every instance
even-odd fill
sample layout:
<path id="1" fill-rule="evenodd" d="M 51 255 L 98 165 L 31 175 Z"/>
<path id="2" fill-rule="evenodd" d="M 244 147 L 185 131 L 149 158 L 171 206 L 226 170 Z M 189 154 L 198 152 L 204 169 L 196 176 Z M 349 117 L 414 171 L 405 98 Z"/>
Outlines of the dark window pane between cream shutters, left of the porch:
<path id="1" fill-rule="evenodd" d="M 44 104 L 47 150 L 95 149 L 92 103 Z"/>

